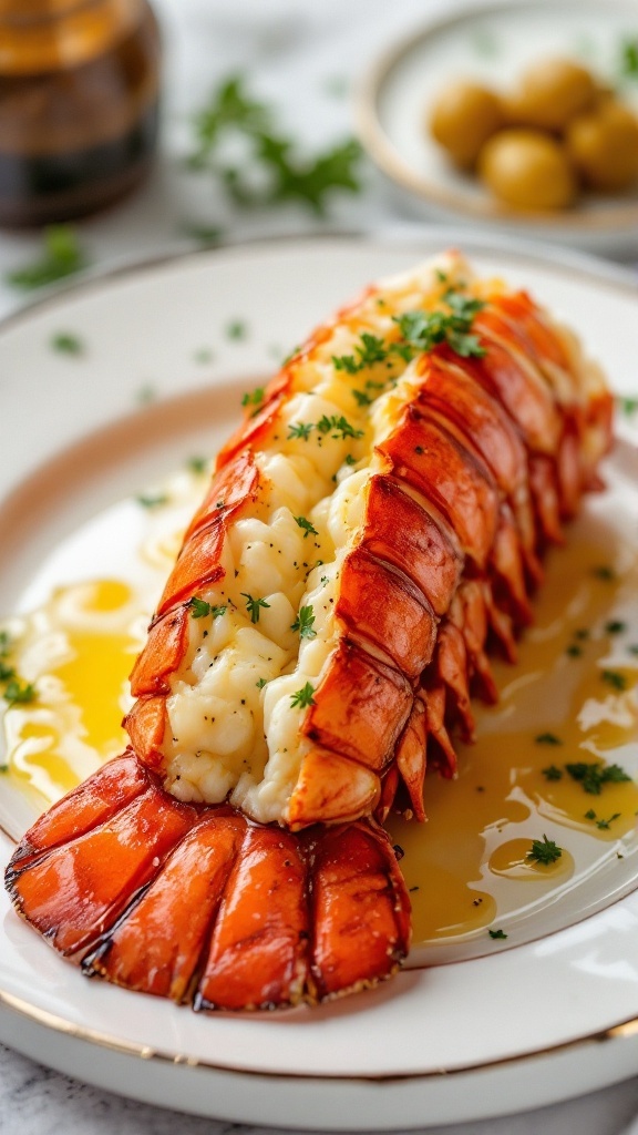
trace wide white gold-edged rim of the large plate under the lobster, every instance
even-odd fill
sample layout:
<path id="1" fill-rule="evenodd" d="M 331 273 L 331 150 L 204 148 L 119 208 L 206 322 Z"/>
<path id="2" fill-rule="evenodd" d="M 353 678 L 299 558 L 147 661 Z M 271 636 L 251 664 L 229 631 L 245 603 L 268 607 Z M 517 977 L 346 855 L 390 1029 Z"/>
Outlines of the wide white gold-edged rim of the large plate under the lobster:
<path id="1" fill-rule="evenodd" d="M 6 322 L 0 609 L 15 607 L 42 556 L 99 508 L 202 452 L 204 439 L 213 448 L 238 381 L 254 385 L 366 283 L 451 243 L 457 233 L 409 246 L 339 238 L 221 250 L 89 280 Z M 479 271 L 529 287 L 569 320 L 614 388 L 636 393 L 630 277 L 577 257 L 463 246 Z M 228 337 L 237 320 L 244 337 Z M 85 353 L 52 351 L 60 331 Z M 143 410 L 136 400 L 149 385 L 159 401 Z M 621 493 L 638 480 L 636 456 L 630 444 L 619 448 Z M 6 836 L 1 851 L 6 860 Z M 638 1066 L 636 892 L 538 941 L 405 970 L 333 1006 L 211 1017 L 87 982 L 3 892 L 0 903 L 0 1040 L 184 1111 L 280 1127 L 422 1127 L 549 1103 Z"/>

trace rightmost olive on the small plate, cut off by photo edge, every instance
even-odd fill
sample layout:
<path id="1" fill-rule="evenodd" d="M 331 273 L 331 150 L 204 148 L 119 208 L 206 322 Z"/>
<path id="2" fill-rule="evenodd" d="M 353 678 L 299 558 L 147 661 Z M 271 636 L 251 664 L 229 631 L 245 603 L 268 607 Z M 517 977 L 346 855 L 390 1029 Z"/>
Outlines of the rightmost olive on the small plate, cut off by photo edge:
<path id="1" fill-rule="evenodd" d="M 570 159 L 595 190 L 624 190 L 638 178 L 638 120 L 610 99 L 574 118 L 565 135 Z"/>

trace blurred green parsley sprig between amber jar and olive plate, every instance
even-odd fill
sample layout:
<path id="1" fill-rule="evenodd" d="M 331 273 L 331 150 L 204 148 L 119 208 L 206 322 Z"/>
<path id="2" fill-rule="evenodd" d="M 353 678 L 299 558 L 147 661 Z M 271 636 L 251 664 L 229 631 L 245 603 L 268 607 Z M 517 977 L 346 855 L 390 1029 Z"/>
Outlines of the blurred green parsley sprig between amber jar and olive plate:
<path id="1" fill-rule="evenodd" d="M 243 208 L 300 201 L 320 216 L 335 190 L 361 188 L 358 142 L 347 140 L 312 157 L 297 152 L 279 132 L 272 108 L 247 93 L 241 75 L 225 79 L 213 92 L 194 118 L 194 134 L 190 168 L 211 173 Z M 236 142 L 249 148 L 241 161 L 233 157 Z"/>

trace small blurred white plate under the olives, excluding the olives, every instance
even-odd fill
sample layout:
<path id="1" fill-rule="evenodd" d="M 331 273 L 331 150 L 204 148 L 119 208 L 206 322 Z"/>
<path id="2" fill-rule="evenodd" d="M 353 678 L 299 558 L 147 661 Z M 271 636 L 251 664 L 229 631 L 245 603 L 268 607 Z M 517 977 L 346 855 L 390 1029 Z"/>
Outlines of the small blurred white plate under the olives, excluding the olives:
<path id="1" fill-rule="evenodd" d="M 554 56 L 581 59 L 615 85 L 621 44 L 637 37 L 633 0 L 502 0 L 455 9 L 369 68 L 356 102 L 361 140 L 404 200 L 429 219 L 627 253 L 638 244 L 638 187 L 615 196 L 582 196 L 570 210 L 526 216 L 498 203 L 478 179 L 455 171 L 429 136 L 426 119 L 456 78 L 505 91 L 527 65 Z M 621 93 L 637 106 L 636 79 Z"/>

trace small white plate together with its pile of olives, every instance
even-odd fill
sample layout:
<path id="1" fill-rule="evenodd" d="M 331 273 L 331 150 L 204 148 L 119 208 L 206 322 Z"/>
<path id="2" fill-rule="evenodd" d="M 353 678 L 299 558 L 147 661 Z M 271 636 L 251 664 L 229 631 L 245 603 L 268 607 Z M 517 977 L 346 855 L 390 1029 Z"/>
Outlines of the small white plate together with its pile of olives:
<path id="1" fill-rule="evenodd" d="M 635 0 L 482 3 L 368 69 L 363 145 L 429 219 L 638 251 Z"/>

